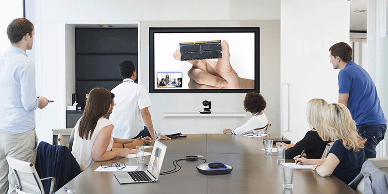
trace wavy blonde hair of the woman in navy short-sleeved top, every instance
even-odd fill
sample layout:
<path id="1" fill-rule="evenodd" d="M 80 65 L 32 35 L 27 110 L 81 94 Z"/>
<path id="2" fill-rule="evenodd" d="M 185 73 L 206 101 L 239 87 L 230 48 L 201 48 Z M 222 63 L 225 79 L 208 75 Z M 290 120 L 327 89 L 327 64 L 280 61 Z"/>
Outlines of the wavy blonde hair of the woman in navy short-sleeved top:
<path id="1" fill-rule="evenodd" d="M 332 103 L 323 107 L 323 131 L 318 131 L 323 141 L 342 140 L 346 149 L 359 151 L 366 139 L 357 133 L 356 122 L 349 109 L 341 103 Z"/>

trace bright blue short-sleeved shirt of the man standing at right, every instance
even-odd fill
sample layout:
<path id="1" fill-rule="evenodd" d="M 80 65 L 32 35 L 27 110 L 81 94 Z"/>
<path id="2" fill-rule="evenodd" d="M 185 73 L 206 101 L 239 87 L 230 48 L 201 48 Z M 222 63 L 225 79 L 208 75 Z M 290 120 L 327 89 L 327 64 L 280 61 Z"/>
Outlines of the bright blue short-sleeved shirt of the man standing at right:
<path id="1" fill-rule="evenodd" d="M 348 109 L 357 125 L 387 124 L 376 86 L 361 66 L 351 61 L 338 74 L 338 93 L 349 94 Z"/>

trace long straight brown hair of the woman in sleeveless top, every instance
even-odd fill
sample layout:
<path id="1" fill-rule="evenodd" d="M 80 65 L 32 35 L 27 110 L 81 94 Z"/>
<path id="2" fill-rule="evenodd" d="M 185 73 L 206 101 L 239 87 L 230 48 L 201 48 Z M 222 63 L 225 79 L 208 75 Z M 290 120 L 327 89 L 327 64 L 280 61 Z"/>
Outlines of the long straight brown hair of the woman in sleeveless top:
<path id="1" fill-rule="evenodd" d="M 82 114 L 78 128 L 78 134 L 82 139 L 92 138 L 98 119 L 108 113 L 111 103 L 111 93 L 107 89 L 93 88 L 89 92 L 85 111 Z"/>

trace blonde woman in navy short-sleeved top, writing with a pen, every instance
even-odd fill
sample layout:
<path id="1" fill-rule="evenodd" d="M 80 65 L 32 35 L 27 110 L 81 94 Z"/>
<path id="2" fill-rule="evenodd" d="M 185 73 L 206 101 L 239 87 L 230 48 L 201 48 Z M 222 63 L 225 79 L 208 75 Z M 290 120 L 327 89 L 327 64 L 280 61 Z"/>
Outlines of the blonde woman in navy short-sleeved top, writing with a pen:
<path id="1" fill-rule="evenodd" d="M 322 177 L 331 174 L 349 184 L 361 171 L 365 162 L 363 139 L 357 134 L 356 122 L 352 119 L 349 109 L 340 103 L 328 104 L 323 107 L 323 128 L 317 132 L 323 141 L 335 140 L 326 159 L 314 160 L 298 158 L 302 164 L 315 164 L 313 170 Z"/>

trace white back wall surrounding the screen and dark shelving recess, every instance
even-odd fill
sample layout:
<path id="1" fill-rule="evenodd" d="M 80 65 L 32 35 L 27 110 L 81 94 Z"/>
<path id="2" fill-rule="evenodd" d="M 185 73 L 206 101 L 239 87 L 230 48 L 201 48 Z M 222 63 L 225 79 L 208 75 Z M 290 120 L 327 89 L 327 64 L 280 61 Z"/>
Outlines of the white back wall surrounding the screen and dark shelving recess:
<path id="1" fill-rule="evenodd" d="M 216 7 L 216 9 L 214 8 Z M 280 130 L 280 1 L 278 0 L 36 0 L 36 66 L 41 95 L 55 102 L 40 111 L 39 141 L 51 142 L 51 129 L 65 128 L 65 107 L 75 91 L 73 28 L 75 24 L 139 22 L 140 83 L 148 88 L 149 27 L 260 27 L 260 93 L 265 110 Z M 182 11 L 184 10 L 184 11 Z M 244 10 L 242 12 L 242 10 Z M 155 128 L 162 133 L 212 133 L 234 128 L 249 119 L 167 118 L 164 112 L 197 112 L 202 101 L 212 101 L 213 112 L 243 112 L 245 94 L 150 94 L 150 112 Z M 169 103 L 169 99 L 176 99 Z M 165 100 L 163 100 L 165 99 Z"/>

